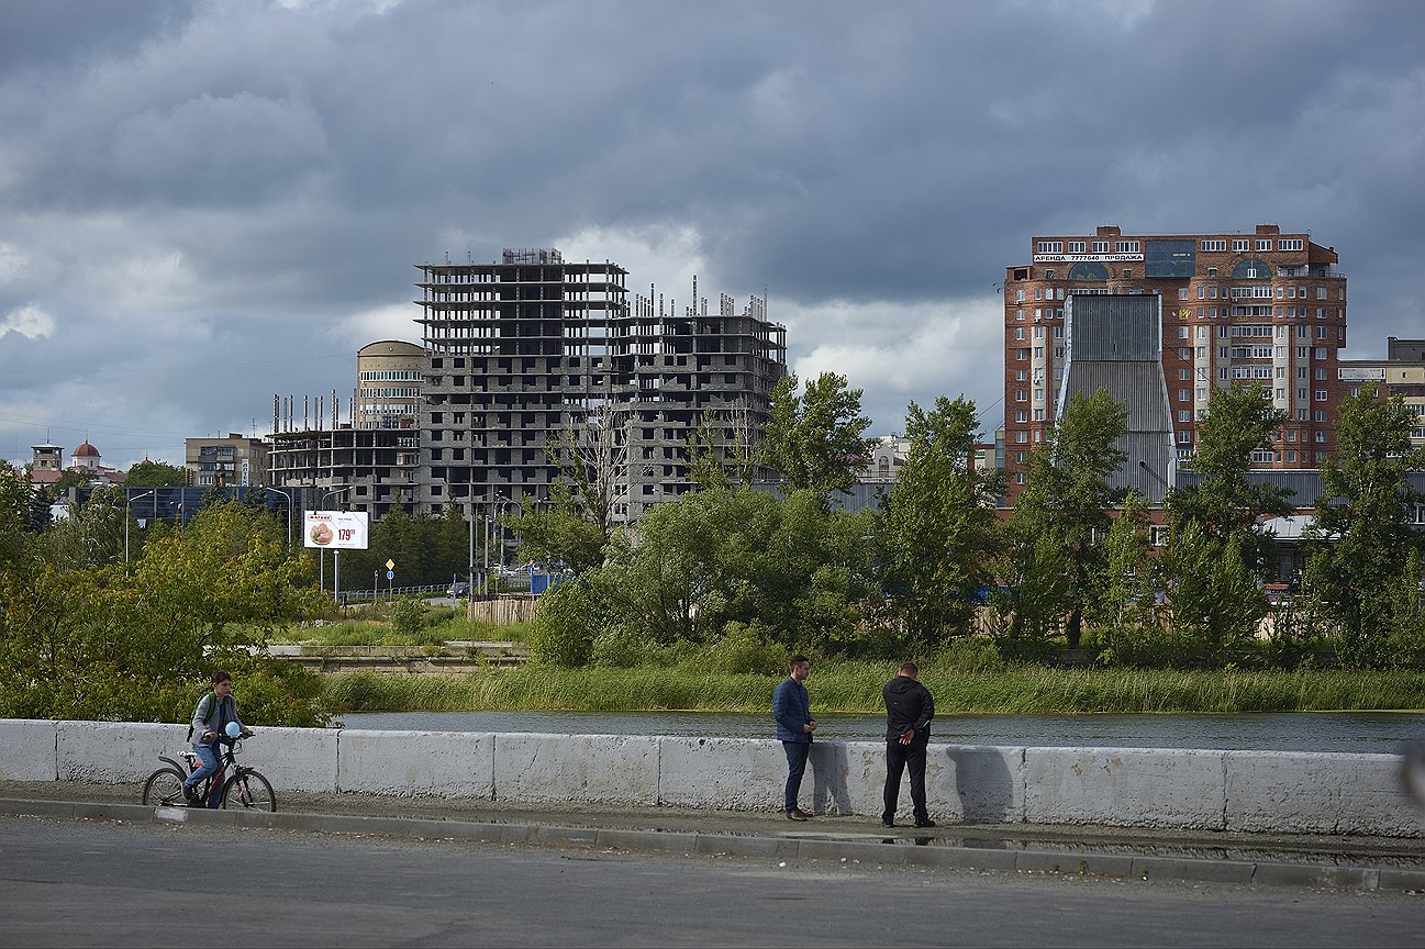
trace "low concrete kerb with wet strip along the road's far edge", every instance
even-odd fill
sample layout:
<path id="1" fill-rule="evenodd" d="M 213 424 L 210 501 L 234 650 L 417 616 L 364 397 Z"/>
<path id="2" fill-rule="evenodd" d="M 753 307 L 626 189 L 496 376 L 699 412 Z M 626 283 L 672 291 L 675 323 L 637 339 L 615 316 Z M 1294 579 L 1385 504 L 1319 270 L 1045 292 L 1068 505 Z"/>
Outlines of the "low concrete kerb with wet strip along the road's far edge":
<path id="1" fill-rule="evenodd" d="M 420 839 L 475 841 L 499 845 L 620 849 L 651 854 L 725 855 L 777 861 L 858 862 L 875 866 L 918 866 L 1020 873 L 1059 873 L 1120 879 L 1176 879 L 1268 886 L 1354 891 L 1425 892 L 1419 858 L 1387 855 L 1377 865 L 1357 865 L 1338 854 L 1261 852 L 1257 859 L 1193 855 L 1196 848 L 1130 844 L 1069 844 L 1030 839 L 976 839 L 852 834 L 705 834 L 677 829 L 560 826 L 524 822 L 479 822 L 428 818 L 351 816 L 333 814 L 269 814 L 154 808 L 134 804 L 0 799 L 11 816 L 91 821 L 191 824 L 314 834 L 359 834 Z M 1213 849 L 1213 848 L 1208 848 Z M 1174 852 L 1177 851 L 1177 852 Z M 1406 864 L 1415 865 L 1389 865 Z"/>

